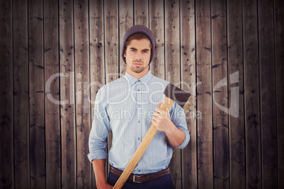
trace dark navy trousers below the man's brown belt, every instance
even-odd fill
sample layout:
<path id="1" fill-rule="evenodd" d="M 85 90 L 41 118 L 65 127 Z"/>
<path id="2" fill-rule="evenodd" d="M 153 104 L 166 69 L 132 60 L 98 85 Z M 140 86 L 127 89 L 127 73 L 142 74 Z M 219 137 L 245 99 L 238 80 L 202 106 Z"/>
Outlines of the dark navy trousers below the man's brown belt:
<path id="1" fill-rule="evenodd" d="M 152 176 L 153 178 L 153 176 Z M 109 174 L 109 177 L 107 178 L 107 183 L 110 185 L 114 185 L 117 183 L 117 180 L 119 179 L 119 176 L 114 175 L 113 173 Z M 172 177 L 170 174 L 167 176 L 164 176 L 162 178 L 155 179 L 153 181 L 145 182 L 145 183 L 134 183 L 130 180 L 127 180 L 124 186 L 122 187 L 123 189 L 158 189 L 158 188 L 163 188 L 163 189 L 174 189 L 174 184 L 172 183 Z"/>

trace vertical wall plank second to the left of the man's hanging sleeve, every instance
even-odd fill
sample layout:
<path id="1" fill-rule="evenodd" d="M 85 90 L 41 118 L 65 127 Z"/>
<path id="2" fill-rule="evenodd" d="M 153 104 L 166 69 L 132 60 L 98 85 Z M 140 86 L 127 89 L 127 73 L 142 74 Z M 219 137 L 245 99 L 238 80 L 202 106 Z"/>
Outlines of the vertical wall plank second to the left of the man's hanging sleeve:
<path id="1" fill-rule="evenodd" d="M 76 188 L 73 1 L 59 1 L 61 187 Z"/>

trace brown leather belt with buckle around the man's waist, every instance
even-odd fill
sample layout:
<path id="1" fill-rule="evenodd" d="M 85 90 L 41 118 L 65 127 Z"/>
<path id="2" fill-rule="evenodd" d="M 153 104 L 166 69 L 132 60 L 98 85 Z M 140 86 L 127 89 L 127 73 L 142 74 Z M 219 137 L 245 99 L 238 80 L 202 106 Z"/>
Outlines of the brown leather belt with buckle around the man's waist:
<path id="1" fill-rule="evenodd" d="M 118 169 L 115 169 L 113 166 L 110 166 L 110 172 L 113 173 L 116 176 L 121 176 L 122 171 L 119 171 Z M 157 173 L 153 173 L 153 180 L 161 178 L 163 176 L 167 176 L 170 174 L 170 168 L 167 168 L 165 170 L 159 171 Z M 131 174 L 128 178 L 130 181 L 134 183 L 144 183 L 151 181 L 151 174 L 148 175 L 134 175 Z"/>

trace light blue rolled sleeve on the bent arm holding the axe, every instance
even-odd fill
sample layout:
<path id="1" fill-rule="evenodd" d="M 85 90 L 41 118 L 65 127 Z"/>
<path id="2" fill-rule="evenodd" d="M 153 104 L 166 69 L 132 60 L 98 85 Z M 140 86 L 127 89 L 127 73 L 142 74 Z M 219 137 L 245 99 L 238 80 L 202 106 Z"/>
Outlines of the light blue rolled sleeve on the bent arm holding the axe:
<path id="1" fill-rule="evenodd" d="M 189 130 L 187 128 L 187 121 L 185 120 L 184 109 L 182 109 L 181 106 L 179 106 L 176 102 L 174 102 L 170 114 L 174 126 L 176 126 L 180 130 L 183 130 L 185 133 L 184 141 L 182 142 L 181 145 L 175 148 L 184 149 L 184 147 L 187 146 L 190 140 Z"/>

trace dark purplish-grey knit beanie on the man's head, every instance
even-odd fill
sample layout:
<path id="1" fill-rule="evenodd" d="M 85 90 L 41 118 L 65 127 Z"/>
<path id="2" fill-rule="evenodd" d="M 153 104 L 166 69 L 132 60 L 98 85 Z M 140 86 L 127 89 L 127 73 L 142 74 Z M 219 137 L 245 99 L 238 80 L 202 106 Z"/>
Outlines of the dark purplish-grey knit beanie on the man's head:
<path id="1" fill-rule="evenodd" d="M 151 30 L 149 30 L 143 25 L 134 25 L 126 31 L 124 35 L 124 39 L 123 39 L 123 46 L 122 46 L 122 59 L 126 63 L 126 60 L 124 57 L 125 42 L 127 41 L 129 37 L 131 37 L 131 35 L 134 35 L 134 33 L 143 33 L 149 37 L 150 42 L 152 44 L 151 56 L 150 56 L 150 61 L 149 61 L 149 63 L 151 63 L 151 61 L 153 60 L 154 52 L 155 52 L 155 37 L 153 35 L 153 32 L 151 32 Z"/>

